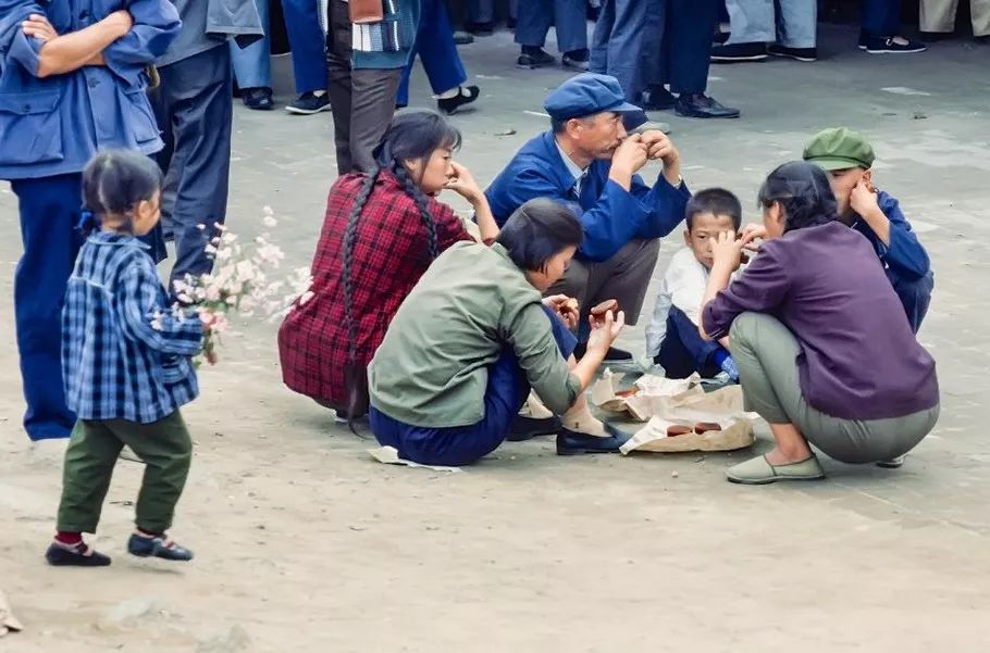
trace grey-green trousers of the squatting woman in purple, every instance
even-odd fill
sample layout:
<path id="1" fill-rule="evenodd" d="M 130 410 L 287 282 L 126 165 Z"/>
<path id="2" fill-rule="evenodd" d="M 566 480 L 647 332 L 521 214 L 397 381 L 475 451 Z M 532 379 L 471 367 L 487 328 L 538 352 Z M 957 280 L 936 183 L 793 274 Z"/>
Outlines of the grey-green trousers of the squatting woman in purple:
<path id="1" fill-rule="evenodd" d="M 793 424 L 808 442 L 837 461 L 875 463 L 904 455 L 938 422 L 938 405 L 890 419 L 840 419 L 816 411 L 797 381 L 797 339 L 764 313 L 735 318 L 729 349 L 739 366 L 745 409 L 770 424 Z"/>

